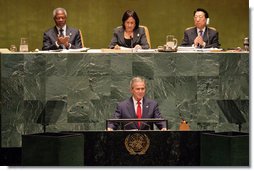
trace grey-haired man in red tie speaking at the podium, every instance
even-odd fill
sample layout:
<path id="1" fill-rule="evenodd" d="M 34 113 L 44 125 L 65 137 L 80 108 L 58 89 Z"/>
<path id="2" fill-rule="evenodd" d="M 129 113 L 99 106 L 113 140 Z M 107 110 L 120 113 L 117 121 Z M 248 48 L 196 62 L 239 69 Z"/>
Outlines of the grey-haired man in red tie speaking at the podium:
<path id="1" fill-rule="evenodd" d="M 113 114 L 114 119 L 133 119 L 133 118 L 162 118 L 159 111 L 158 103 L 145 97 L 146 81 L 141 77 L 134 77 L 130 81 L 130 91 L 132 97 L 120 102 Z M 165 122 L 156 122 L 155 125 L 160 130 L 166 130 Z M 119 127 L 118 123 L 109 123 L 108 131 L 115 130 Z M 133 122 L 125 123 L 126 130 L 144 130 L 151 129 L 151 122 Z"/>

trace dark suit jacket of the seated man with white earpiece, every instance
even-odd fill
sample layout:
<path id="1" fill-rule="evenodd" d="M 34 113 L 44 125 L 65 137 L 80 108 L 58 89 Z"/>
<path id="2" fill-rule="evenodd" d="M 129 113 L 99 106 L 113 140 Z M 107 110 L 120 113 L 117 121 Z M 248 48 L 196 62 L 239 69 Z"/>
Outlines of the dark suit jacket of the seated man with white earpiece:
<path id="1" fill-rule="evenodd" d="M 198 36 L 197 28 L 191 27 L 184 31 L 184 38 L 181 46 L 192 46 L 194 44 L 194 39 Z M 205 48 L 219 48 L 219 34 L 214 29 L 206 27 L 203 40 L 206 42 Z"/>

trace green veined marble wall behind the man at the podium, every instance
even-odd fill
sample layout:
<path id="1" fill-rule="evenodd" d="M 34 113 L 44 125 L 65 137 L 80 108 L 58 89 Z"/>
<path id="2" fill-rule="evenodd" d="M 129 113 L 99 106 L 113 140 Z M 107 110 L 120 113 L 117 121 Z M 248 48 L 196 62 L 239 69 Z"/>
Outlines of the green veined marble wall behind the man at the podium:
<path id="1" fill-rule="evenodd" d="M 134 75 L 148 80 L 169 128 L 249 132 L 249 53 L 1 54 L 1 144 L 21 135 L 104 130 Z M 46 110 L 45 109 L 46 105 Z"/>

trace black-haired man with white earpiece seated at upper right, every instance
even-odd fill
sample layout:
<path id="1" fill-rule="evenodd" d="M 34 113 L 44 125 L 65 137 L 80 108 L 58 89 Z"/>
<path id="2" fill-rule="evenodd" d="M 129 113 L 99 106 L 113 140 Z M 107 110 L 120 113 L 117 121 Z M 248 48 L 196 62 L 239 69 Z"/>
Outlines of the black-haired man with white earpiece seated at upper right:
<path id="1" fill-rule="evenodd" d="M 194 46 L 196 48 L 219 48 L 219 35 L 214 28 L 207 27 L 209 23 L 208 12 L 202 8 L 194 11 L 195 27 L 184 31 L 181 46 Z"/>

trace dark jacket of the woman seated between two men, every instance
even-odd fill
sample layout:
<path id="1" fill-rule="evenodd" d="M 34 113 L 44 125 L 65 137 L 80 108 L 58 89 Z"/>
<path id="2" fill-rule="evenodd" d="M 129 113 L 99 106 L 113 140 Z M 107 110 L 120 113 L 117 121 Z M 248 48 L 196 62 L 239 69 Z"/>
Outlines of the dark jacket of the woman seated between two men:
<path id="1" fill-rule="evenodd" d="M 113 49 L 117 44 L 119 46 L 128 47 L 124 41 L 124 29 L 122 26 L 114 29 L 113 38 L 109 44 L 109 48 Z M 133 38 L 131 40 L 131 47 L 129 48 L 133 48 L 137 44 L 139 44 L 142 49 L 149 49 L 144 28 L 139 27 L 138 29 L 134 30 Z"/>

